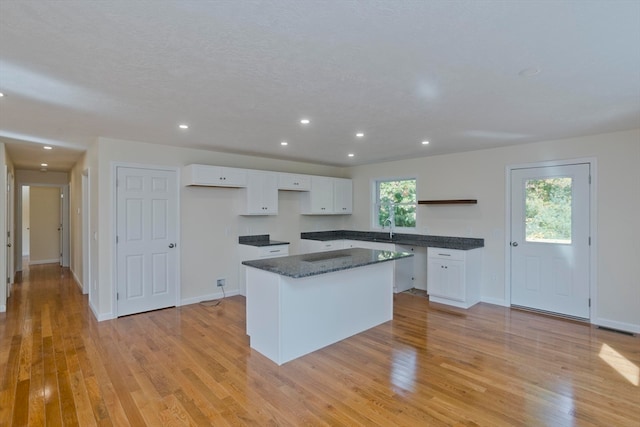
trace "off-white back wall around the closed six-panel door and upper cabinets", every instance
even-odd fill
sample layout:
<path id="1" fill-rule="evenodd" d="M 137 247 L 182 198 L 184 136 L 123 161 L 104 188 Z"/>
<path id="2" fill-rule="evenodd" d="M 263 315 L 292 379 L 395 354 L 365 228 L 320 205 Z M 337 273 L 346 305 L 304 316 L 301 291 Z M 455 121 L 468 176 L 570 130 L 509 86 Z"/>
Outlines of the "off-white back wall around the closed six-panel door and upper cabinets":
<path id="1" fill-rule="evenodd" d="M 182 167 L 192 163 L 224 165 L 250 169 L 298 172 L 314 175 L 344 176 L 344 170 L 330 166 L 217 153 L 178 147 L 159 147 L 133 141 L 100 138 L 90 148 L 85 165 L 92 182 L 91 224 L 97 224 L 94 281 L 90 303 L 98 319 L 114 314 L 114 203 L 113 164 L 129 162 L 146 165 Z M 75 179 L 81 168 L 73 170 Z M 94 178 L 95 177 L 95 178 Z M 94 188 L 95 186 L 95 188 Z M 299 194 L 279 192 L 279 215 L 243 217 L 236 203 L 241 191 L 228 188 L 192 188 L 181 186 L 181 297 L 183 303 L 197 302 L 218 295 L 215 278 L 227 278 L 227 292 L 238 291 L 240 260 L 236 254 L 238 236 L 270 234 L 277 240 L 290 241 L 295 252 L 301 231 L 342 228 L 344 218 L 302 216 Z M 95 195 L 95 196 L 94 196 Z"/>

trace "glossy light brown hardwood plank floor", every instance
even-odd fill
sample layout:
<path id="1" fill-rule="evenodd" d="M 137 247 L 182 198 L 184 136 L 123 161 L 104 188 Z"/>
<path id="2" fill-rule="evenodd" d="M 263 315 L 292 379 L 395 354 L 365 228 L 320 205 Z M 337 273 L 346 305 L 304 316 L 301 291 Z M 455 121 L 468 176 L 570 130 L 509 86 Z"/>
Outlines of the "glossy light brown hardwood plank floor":
<path id="1" fill-rule="evenodd" d="M 249 348 L 243 297 L 98 323 L 68 270 L 32 267 L 0 315 L 0 425 L 640 425 L 638 337 L 394 305 L 393 321 L 278 367 Z"/>

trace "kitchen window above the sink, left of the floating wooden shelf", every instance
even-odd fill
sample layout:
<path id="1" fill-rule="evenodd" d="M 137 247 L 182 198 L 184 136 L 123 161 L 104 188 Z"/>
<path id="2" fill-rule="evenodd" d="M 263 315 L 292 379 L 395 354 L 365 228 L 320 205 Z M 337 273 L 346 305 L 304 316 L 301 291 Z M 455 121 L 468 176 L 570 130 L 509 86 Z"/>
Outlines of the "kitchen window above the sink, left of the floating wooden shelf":
<path id="1" fill-rule="evenodd" d="M 415 228 L 417 206 L 415 178 L 377 180 L 373 228 Z"/>

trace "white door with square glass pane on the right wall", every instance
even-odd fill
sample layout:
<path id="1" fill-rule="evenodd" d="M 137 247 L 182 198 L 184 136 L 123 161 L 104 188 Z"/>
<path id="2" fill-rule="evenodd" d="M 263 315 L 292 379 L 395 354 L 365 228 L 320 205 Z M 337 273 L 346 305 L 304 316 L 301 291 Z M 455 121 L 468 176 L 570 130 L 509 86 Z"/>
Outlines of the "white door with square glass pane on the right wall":
<path id="1" fill-rule="evenodd" d="M 589 164 L 511 171 L 511 304 L 590 317 Z"/>

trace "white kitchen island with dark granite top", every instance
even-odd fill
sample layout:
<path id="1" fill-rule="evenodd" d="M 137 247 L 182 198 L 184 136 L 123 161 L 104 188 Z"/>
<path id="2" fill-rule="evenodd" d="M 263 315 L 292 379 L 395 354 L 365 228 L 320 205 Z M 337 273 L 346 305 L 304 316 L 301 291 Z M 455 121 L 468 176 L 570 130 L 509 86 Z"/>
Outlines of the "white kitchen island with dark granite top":
<path id="1" fill-rule="evenodd" d="M 251 348 L 278 365 L 393 318 L 393 262 L 345 249 L 244 261 Z"/>

